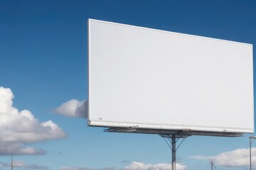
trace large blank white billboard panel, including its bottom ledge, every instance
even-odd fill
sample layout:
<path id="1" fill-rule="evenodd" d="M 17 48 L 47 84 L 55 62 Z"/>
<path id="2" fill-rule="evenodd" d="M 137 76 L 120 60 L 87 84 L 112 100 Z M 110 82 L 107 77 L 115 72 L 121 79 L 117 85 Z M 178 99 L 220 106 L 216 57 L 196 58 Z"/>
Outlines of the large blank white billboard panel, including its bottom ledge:
<path id="1" fill-rule="evenodd" d="M 88 22 L 88 125 L 254 132 L 252 45 Z"/>

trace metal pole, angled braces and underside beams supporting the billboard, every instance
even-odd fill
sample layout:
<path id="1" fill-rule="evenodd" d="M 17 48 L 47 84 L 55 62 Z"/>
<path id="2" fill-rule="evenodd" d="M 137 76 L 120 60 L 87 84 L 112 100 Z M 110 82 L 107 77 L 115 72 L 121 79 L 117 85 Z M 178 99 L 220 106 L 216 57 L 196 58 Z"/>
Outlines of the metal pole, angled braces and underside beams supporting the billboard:
<path id="1" fill-rule="evenodd" d="M 171 149 L 171 168 L 176 170 L 176 151 L 178 147 L 181 146 L 186 137 L 192 135 L 207 135 L 207 136 L 220 136 L 220 137 L 240 137 L 243 133 L 240 132 L 204 132 L 204 131 L 194 131 L 194 130 L 159 130 L 159 129 L 144 129 L 144 128 L 107 128 L 104 132 L 128 132 L 128 133 L 144 133 L 144 134 L 155 134 L 160 135 L 164 138 L 165 142 Z M 167 140 L 166 140 L 167 139 Z M 178 140 L 181 143 L 176 147 Z M 170 145 L 170 144 L 171 145 Z"/>

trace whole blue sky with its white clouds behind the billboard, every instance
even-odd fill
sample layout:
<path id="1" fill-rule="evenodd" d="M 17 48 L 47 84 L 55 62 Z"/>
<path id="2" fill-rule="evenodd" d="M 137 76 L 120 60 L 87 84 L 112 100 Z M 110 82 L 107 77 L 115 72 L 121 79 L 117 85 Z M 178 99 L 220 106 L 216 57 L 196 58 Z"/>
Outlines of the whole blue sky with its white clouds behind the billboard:
<path id="1" fill-rule="evenodd" d="M 0 169 L 11 154 L 21 170 L 170 169 L 158 135 L 103 132 L 75 113 L 87 100 L 88 18 L 256 44 L 256 1 L 0 0 Z M 177 169 L 248 169 L 250 135 L 188 137 Z"/>

